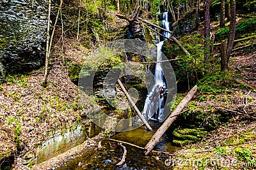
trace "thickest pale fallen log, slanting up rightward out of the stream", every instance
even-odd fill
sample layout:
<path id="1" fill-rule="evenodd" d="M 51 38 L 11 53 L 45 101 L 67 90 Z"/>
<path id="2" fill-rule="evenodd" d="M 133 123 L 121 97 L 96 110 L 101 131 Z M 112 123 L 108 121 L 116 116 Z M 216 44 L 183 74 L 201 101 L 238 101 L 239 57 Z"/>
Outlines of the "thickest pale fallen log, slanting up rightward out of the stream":
<path id="1" fill-rule="evenodd" d="M 188 104 L 188 102 L 192 99 L 192 97 L 196 93 L 197 86 L 193 87 L 188 94 L 182 99 L 182 101 L 179 103 L 177 108 L 172 112 L 172 114 L 164 121 L 164 123 L 159 127 L 159 129 L 156 131 L 156 133 L 152 136 L 150 141 L 145 146 L 145 155 L 148 155 L 156 145 L 156 143 L 159 141 L 159 139 L 163 136 L 164 132 L 172 125 L 173 121 L 177 118 L 177 116 L 180 114 L 180 111 Z"/>

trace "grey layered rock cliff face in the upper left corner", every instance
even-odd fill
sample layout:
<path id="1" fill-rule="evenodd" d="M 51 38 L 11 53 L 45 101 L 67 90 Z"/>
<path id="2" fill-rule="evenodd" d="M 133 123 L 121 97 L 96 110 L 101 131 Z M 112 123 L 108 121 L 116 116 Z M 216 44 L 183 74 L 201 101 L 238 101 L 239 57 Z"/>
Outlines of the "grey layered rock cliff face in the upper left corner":
<path id="1" fill-rule="evenodd" d="M 47 1 L 0 1 L 0 81 L 44 63 Z"/>

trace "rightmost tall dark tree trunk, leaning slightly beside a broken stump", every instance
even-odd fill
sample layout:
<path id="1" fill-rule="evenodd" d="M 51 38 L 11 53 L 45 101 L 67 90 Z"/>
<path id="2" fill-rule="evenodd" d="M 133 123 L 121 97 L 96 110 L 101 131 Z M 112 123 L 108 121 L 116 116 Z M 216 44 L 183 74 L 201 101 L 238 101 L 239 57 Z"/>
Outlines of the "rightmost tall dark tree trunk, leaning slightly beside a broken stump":
<path id="1" fill-rule="evenodd" d="M 227 46 L 227 59 L 229 60 L 230 54 L 233 49 L 234 40 L 236 36 L 236 0 L 230 0 L 230 27 L 229 27 L 229 40 Z"/>

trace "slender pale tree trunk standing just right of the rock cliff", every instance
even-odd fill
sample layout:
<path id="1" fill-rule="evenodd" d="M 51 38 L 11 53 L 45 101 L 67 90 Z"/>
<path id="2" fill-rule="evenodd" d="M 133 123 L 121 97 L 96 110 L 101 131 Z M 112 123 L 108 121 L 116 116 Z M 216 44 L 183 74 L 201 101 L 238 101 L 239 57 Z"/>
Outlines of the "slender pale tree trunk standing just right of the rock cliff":
<path id="1" fill-rule="evenodd" d="M 43 85 L 47 85 L 47 67 L 49 60 L 49 39 L 50 39 L 50 20 L 51 20 L 51 0 L 49 0 L 48 8 L 48 21 L 47 21 L 47 38 L 46 38 L 46 55 L 45 55 L 45 71 L 44 71 L 44 81 Z"/>

